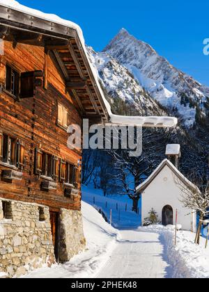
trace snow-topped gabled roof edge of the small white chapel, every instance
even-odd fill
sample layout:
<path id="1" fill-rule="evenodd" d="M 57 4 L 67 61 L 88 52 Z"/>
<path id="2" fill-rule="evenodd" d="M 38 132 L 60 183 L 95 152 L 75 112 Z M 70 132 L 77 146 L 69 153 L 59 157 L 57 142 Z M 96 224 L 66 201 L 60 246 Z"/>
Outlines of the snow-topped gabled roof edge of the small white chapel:
<path id="1" fill-rule="evenodd" d="M 195 186 L 194 184 L 192 184 L 192 182 L 189 181 L 189 179 L 187 179 L 173 165 L 173 163 L 171 163 L 171 161 L 169 161 L 168 159 L 164 159 L 164 161 L 162 161 L 162 163 L 160 163 L 160 165 L 158 165 L 158 167 L 154 170 L 154 172 L 150 175 L 150 177 L 148 177 L 148 179 L 146 179 L 146 181 L 144 181 L 142 184 L 140 184 L 139 186 L 137 186 L 137 188 L 136 188 L 137 193 L 142 193 L 144 190 L 146 190 L 146 188 L 150 185 L 150 183 L 153 181 L 153 179 L 155 179 L 155 177 L 157 177 L 157 175 L 161 172 L 161 170 L 166 165 L 173 171 L 173 173 L 178 177 L 178 179 L 180 179 L 181 181 L 183 181 L 185 183 L 185 185 L 188 186 L 188 188 L 192 188 L 193 190 L 196 190 L 197 192 L 200 193 L 199 188 L 197 186 Z"/>

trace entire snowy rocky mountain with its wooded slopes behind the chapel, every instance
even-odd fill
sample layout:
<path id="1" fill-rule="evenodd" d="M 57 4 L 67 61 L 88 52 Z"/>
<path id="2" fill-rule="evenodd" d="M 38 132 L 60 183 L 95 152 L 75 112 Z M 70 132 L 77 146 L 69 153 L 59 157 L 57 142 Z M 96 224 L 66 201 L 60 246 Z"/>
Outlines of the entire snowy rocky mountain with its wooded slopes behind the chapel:
<path id="1" fill-rule="evenodd" d="M 162 137 L 155 162 L 164 159 L 167 143 L 180 143 L 184 175 L 195 170 L 209 177 L 209 88 L 177 70 L 124 29 L 102 52 L 91 47 L 87 51 L 114 113 L 178 117 L 176 129 L 150 130 L 156 141 Z"/>

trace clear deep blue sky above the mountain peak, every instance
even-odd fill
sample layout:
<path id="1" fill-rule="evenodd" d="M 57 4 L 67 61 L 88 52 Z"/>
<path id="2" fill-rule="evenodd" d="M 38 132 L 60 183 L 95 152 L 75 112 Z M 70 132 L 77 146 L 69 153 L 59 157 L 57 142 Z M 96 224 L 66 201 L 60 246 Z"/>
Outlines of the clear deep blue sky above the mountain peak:
<path id="1" fill-rule="evenodd" d="M 86 44 L 102 50 L 124 27 L 148 42 L 172 65 L 209 86 L 209 56 L 203 40 L 209 38 L 208 0 L 19 0 L 79 24 Z"/>

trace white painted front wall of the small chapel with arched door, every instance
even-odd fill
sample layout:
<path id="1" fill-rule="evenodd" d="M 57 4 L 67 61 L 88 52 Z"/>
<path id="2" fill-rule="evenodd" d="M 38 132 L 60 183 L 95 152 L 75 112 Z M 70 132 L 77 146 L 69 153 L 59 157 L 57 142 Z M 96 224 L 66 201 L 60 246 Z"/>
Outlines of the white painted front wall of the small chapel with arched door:
<path id="1" fill-rule="evenodd" d="M 165 165 L 144 190 L 141 200 L 142 223 L 144 224 L 144 218 L 148 217 L 152 208 L 157 212 L 159 220 L 162 221 L 162 209 L 164 206 L 170 205 L 173 208 L 173 225 L 175 224 L 176 209 L 178 209 L 178 224 L 182 225 L 183 230 L 196 232 L 196 213 L 191 214 L 192 211 L 185 209 L 179 201 L 182 193 L 175 182 L 176 179 L 175 174 Z"/>

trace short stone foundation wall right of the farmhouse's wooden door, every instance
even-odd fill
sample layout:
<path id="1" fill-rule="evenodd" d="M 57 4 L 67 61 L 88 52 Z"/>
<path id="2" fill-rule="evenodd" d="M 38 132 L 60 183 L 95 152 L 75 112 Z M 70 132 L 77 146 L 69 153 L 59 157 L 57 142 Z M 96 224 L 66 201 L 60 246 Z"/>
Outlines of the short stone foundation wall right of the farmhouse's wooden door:
<path id="1" fill-rule="evenodd" d="M 61 209 L 60 213 L 60 261 L 69 261 L 86 247 L 82 212 Z"/>

